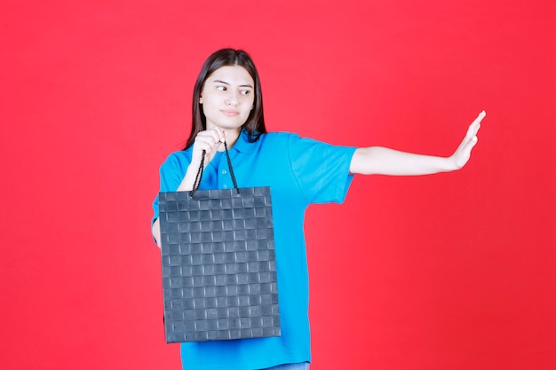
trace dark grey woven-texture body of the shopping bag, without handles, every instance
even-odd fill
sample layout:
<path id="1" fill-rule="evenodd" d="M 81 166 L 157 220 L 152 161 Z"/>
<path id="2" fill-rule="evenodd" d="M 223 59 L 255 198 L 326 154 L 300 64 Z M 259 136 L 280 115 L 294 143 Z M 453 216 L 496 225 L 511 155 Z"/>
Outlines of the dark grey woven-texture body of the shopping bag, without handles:
<path id="1" fill-rule="evenodd" d="M 280 335 L 269 187 L 159 194 L 166 342 Z"/>

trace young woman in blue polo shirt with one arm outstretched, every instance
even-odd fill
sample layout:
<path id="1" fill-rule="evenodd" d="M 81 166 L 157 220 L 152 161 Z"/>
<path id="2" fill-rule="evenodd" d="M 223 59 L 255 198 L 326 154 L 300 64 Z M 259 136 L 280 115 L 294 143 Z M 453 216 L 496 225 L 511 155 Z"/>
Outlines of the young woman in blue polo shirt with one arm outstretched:
<path id="1" fill-rule="evenodd" d="M 290 133 L 267 133 L 258 72 L 245 51 L 223 49 L 203 64 L 193 93 L 193 124 L 183 151 L 160 169 L 161 192 L 233 186 L 224 142 L 240 187 L 270 186 L 282 336 L 181 345 L 184 369 L 307 369 L 311 361 L 303 220 L 311 203 L 342 202 L 353 174 L 425 175 L 461 169 L 477 143 L 481 112 L 449 157 L 385 147 L 331 146 Z M 160 247 L 158 200 L 152 232 Z M 274 366 L 274 367 L 273 367 Z"/>

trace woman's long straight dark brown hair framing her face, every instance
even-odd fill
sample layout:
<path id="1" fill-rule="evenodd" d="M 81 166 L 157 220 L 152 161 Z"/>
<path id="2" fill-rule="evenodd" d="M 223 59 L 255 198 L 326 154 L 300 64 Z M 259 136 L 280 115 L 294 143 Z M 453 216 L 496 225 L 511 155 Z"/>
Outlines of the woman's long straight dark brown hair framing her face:
<path id="1" fill-rule="evenodd" d="M 191 133 L 184 150 L 192 146 L 197 134 L 207 128 L 207 120 L 203 114 L 201 103 L 199 103 L 204 83 L 214 71 L 219 67 L 225 66 L 241 66 L 245 68 L 255 83 L 253 109 L 250 111 L 247 121 L 242 125 L 242 128 L 247 131 L 249 141 L 257 141 L 260 134 L 266 133 L 265 117 L 263 115 L 263 94 L 260 89 L 260 80 L 253 59 L 251 59 L 247 52 L 242 50 L 221 49 L 210 54 L 210 57 L 204 61 L 201 72 L 197 76 L 193 90 Z"/>

